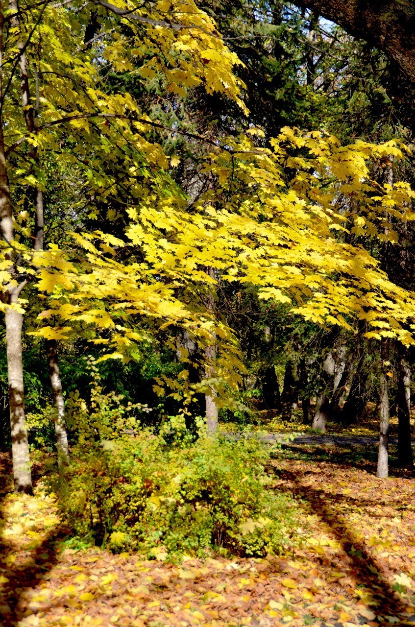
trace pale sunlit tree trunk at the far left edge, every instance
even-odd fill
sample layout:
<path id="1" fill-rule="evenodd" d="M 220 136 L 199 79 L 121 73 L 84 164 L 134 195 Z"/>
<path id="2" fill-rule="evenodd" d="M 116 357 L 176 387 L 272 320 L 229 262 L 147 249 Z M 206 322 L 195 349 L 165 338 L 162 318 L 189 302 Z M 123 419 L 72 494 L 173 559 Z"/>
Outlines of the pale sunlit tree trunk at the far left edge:
<path id="1" fill-rule="evenodd" d="M 3 29 L 4 13 L 3 3 L 0 4 L 0 97 L 3 97 Z M 0 236 L 11 244 L 14 239 L 13 213 L 10 203 L 10 189 L 4 154 L 3 119 L 0 119 Z M 6 259 L 10 261 L 10 278 L 15 280 L 16 268 L 14 267 L 13 248 L 9 248 Z M 17 306 L 19 293 L 26 282 L 9 285 L 1 295 L 6 305 Z M 6 352 L 8 361 L 9 382 L 9 409 L 11 444 L 13 455 L 13 477 L 15 492 L 31 493 L 32 480 L 30 470 L 30 456 L 28 445 L 28 432 L 24 418 L 24 387 L 23 387 L 23 361 L 21 332 L 23 315 L 11 307 L 6 307 Z"/>

